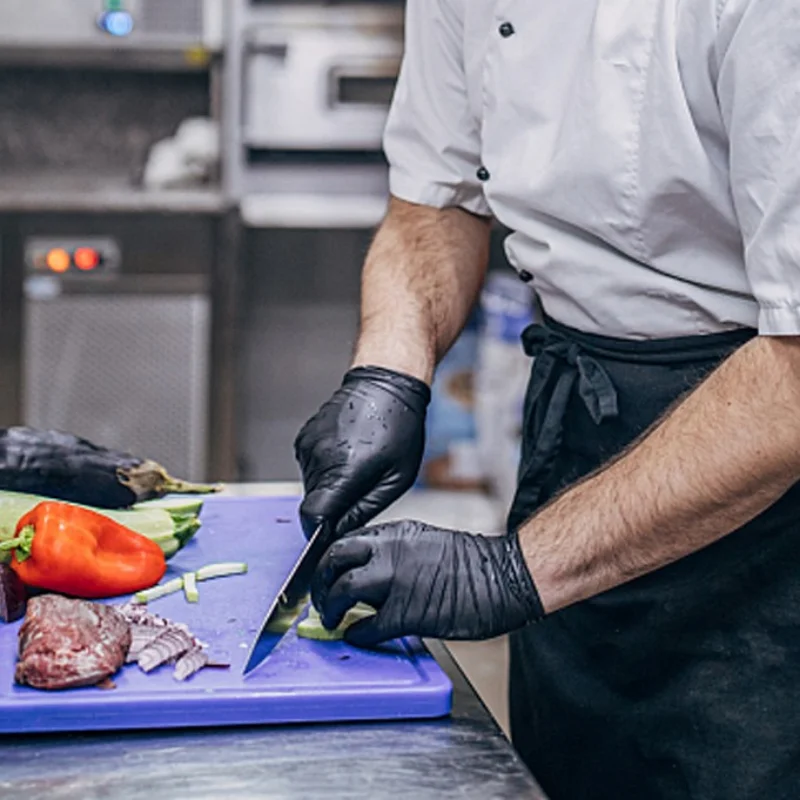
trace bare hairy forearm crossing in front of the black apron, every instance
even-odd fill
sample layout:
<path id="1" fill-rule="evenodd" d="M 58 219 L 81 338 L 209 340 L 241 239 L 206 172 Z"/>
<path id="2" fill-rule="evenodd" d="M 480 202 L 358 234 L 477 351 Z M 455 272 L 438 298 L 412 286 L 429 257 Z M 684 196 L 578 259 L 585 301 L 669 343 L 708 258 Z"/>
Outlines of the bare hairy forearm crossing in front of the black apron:
<path id="1" fill-rule="evenodd" d="M 547 611 L 695 552 L 800 478 L 800 338 L 759 337 L 520 532 Z"/>

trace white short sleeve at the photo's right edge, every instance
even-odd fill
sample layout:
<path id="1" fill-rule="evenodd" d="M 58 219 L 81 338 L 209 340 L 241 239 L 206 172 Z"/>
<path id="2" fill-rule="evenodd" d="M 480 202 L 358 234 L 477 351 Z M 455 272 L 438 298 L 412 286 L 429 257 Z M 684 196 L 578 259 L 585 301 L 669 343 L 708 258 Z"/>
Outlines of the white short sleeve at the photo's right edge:
<path id="1" fill-rule="evenodd" d="M 800 4 L 719 8 L 717 93 L 759 332 L 800 335 Z"/>

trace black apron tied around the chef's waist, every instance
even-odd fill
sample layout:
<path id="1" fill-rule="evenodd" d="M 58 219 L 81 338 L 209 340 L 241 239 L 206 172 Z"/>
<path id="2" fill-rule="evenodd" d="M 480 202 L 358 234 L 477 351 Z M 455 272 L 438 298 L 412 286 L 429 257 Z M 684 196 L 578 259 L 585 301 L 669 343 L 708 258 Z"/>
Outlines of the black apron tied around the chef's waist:
<path id="1" fill-rule="evenodd" d="M 529 328 L 509 529 L 753 335 Z M 800 798 L 798 486 L 699 553 L 512 635 L 513 740 L 551 800 Z"/>

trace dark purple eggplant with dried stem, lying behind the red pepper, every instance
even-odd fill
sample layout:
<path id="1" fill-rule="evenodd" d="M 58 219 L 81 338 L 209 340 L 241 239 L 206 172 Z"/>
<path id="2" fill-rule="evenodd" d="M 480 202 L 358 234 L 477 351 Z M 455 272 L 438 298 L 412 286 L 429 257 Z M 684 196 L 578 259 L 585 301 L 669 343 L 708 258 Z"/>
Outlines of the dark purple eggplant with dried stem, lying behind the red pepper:
<path id="1" fill-rule="evenodd" d="M 205 494 L 219 487 L 178 480 L 155 461 L 69 433 L 13 427 L 0 429 L 0 489 L 128 508 L 166 494 Z"/>

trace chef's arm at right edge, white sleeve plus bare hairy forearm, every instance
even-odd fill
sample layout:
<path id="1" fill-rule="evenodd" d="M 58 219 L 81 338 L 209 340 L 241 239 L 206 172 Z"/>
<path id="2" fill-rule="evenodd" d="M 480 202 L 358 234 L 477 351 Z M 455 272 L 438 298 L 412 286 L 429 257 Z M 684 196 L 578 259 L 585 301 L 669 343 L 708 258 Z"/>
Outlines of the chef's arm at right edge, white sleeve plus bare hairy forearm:
<path id="1" fill-rule="evenodd" d="M 524 526 L 526 558 L 548 610 L 705 547 L 800 477 L 796 9 L 794 0 L 720 4 L 715 46 L 732 197 L 762 336 L 626 455 Z"/>

